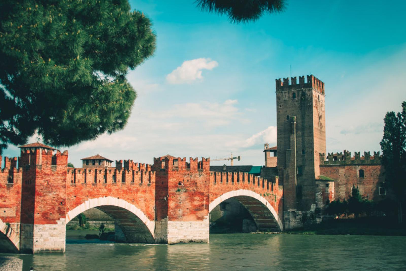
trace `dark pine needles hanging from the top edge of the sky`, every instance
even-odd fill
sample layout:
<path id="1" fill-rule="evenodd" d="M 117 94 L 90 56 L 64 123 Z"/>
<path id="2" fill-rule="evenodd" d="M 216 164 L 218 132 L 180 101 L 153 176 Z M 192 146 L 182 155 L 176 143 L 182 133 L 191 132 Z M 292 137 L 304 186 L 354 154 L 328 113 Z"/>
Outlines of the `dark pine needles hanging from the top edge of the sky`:
<path id="1" fill-rule="evenodd" d="M 258 20 L 263 13 L 277 13 L 285 8 L 285 0 L 197 0 L 202 11 L 227 14 L 233 23 Z"/>

